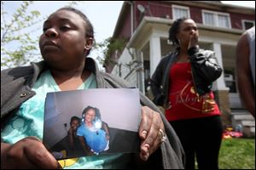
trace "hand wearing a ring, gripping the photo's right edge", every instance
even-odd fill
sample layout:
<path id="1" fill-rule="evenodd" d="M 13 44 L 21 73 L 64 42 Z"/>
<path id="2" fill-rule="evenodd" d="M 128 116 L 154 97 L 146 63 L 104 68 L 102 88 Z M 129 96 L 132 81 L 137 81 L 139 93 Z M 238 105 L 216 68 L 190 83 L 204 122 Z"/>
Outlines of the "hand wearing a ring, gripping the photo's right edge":
<path id="1" fill-rule="evenodd" d="M 153 111 L 148 106 L 142 107 L 139 137 L 142 139 L 140 157 L 143 161 L 147 161 L 154 150 L 160 146 L 162 139 L 166 138 L 160 113 Z"/>

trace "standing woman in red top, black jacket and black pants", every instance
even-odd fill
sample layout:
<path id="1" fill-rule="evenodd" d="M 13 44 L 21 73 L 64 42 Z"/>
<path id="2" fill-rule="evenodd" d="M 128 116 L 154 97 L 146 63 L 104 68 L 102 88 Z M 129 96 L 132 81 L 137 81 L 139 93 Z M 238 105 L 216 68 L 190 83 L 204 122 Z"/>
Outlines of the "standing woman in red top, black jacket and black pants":
<path id="1" fill-rule="evenodd" d="M 222 73 L 214 53 L 198 46 L 198 28 L 191 19 L 178 19 L 169 31 L 177 50 L 160 60 L 151 78 L 154 103 L 166 108 L 186 154 L 186 169 L 218 169 L 222 139 L 220 111 L 212 82 Z"/>

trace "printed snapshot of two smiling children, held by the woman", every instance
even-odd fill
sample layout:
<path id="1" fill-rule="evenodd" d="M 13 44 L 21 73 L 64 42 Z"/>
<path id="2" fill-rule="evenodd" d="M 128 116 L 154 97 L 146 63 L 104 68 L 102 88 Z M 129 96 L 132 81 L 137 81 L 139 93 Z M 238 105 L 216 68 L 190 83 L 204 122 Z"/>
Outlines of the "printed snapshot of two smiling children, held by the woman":
<path id="1" fill-rule="evenodd" d="M 48 93 L 43 143 L 57 160 L 139 152 L 137 88 Z"/>

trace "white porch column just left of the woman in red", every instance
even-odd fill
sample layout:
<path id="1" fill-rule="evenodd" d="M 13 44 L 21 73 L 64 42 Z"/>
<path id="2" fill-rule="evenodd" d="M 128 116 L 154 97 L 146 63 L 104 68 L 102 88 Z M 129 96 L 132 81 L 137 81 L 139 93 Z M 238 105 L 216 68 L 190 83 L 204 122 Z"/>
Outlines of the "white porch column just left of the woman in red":
<path id="1" fill-rule="evenodd" d="M 161 59 L 160 37 L 151 36 L 149 40 L 150 52 L 150 77 L 153 75 L 156 66 Z"/>

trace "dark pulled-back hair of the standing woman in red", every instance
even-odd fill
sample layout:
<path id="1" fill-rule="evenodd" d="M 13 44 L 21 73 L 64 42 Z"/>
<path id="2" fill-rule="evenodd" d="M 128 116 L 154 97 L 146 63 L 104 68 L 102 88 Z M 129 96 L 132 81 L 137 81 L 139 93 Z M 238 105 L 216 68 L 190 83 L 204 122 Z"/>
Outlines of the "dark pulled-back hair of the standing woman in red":
<path id="1" fill-rule="evenodd" d="M 172 42 L 172 45 L 179 45 L 176 34 L 179 30 L 180 24 L 184 21 L 184 20 L 188 20 L 189 18 L 183 17 L 177 20 L 174 20 L 174 22 L 172 23 L 172 26 L 169 30 L 169 41 Z"/>

